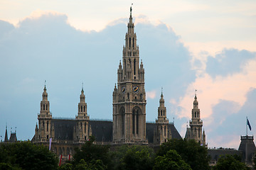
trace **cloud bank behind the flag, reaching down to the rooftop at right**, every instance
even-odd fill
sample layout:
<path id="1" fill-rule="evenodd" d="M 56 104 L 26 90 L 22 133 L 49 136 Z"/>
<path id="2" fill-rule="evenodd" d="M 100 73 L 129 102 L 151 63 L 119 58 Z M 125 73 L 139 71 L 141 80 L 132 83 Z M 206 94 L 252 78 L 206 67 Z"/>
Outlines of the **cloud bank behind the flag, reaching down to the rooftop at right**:
<path id="1" fill-rule="evenodd" d="M 247 91 L 246 101 L 242 107 L 233 101 L 220 101 L 213 106 L 213 115 L 206 118 L 207 123 L 204 123 L 211 147 L 229 146 L 238 149 L 240 135 L 246 135 L 246 116 L 250 118 L 250 124 L 256 125 L 255 96 L 256 89 L 251 88 Z M 256 128 L 249 130 L 248 135 L 254 134 L 255 131 Z"/>

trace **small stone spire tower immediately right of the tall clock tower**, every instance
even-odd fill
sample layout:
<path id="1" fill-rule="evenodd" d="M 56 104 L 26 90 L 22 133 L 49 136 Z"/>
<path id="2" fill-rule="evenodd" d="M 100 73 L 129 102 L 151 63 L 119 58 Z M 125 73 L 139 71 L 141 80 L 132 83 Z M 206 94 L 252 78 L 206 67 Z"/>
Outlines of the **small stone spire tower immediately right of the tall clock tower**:
<path id="1" fill-rule="evenodd" d="M 166 107 L 164 106 L 163 89 L 159 100 L 158 117 L 156 119 L 156 130 L 154 132 L 154 143 L 161 145 L 171 137 L 169 134 L 169 120 L 167 119 Z"/>

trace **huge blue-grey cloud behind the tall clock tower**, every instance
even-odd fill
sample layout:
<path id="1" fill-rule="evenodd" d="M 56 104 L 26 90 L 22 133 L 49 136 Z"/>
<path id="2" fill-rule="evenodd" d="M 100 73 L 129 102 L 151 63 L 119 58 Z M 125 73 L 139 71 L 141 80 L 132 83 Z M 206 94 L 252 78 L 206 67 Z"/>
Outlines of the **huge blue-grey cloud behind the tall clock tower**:
<path id="1" fill-rule="evenodd" d="M 18 128 L 18 138 L 33 137 L 45 79 L 54 117 L 75 118 L 83 82 L 90 118 L 112 119 L 126 23 L 84 32 L 70 26 L 67 16 L 49 13 L 26 18 L 18 27 L 1 21 L 0 28 L 1 130 L 7 122 Z M 151 23 L 137 23 L 135 28 L 146 91 L 159 89 L 146 106 L 146 120 L 154 120 L 161 86 L 168 106 L 169 98 L 178 100 L 185 94 L 196 72 L 191 70 L 188 49 L 171 28 Z"/>

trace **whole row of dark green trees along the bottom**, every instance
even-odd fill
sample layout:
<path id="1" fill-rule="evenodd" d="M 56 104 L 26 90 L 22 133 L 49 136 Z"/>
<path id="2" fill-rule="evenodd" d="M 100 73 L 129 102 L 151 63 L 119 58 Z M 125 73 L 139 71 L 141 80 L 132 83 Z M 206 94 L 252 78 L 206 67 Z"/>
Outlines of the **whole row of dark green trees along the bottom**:
<path id="1" fill-rule="evenodd" d="M 75 149 L 73 160 L 58 166 L 58 157 L 42 145 L 18 142 L 0 146 L 0 169 L 58 169 L 58 170 L 225 170 L 248 169 L 240 157 L 226 155 L 210 167 L 206 147 L 194 140 L 169 140 L 154 152 L 151 147 L 93 144 L 94 137 Z"/>

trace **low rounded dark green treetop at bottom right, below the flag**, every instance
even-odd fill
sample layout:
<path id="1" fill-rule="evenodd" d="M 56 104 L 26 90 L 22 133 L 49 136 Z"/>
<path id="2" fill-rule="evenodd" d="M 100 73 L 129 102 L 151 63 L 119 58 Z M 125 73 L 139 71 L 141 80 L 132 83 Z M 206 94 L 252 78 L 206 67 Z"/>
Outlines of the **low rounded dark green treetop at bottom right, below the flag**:
<path id="1" fill-rule="evenodd" d="M 213 170 L 247 170 L 247 166 L 237 158 L 230 154 L 221 156 Z"/>

